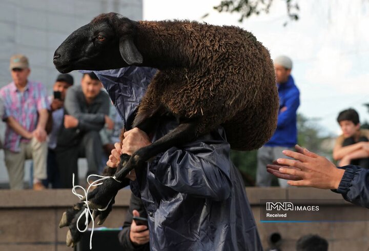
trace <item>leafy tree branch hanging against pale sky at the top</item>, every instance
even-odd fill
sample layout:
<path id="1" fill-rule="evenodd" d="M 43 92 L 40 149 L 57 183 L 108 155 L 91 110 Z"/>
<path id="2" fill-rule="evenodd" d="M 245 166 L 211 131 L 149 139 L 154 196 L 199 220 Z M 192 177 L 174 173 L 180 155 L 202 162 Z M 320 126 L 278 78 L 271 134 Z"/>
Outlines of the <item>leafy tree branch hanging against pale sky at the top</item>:
<path id="1" fill-rule="evenodd" d="M 279 0 L 286 4 L 287 14 L 291 21 L 297 21 L 299 16 L 299 6 L 293 0 Z M 249 18 L 252 15 L 259 15 L 261 13 L 268 14 L 274 0 L 223 0 L 219 5 L 213 8 L 219 12 L 237 12 L 241 16 L 239 22 L 243 22 L 244 18 Z M 207 16 L 208 14 L 204 15 Z M 284 25 L 286 25 L 284 23 Z"/>

